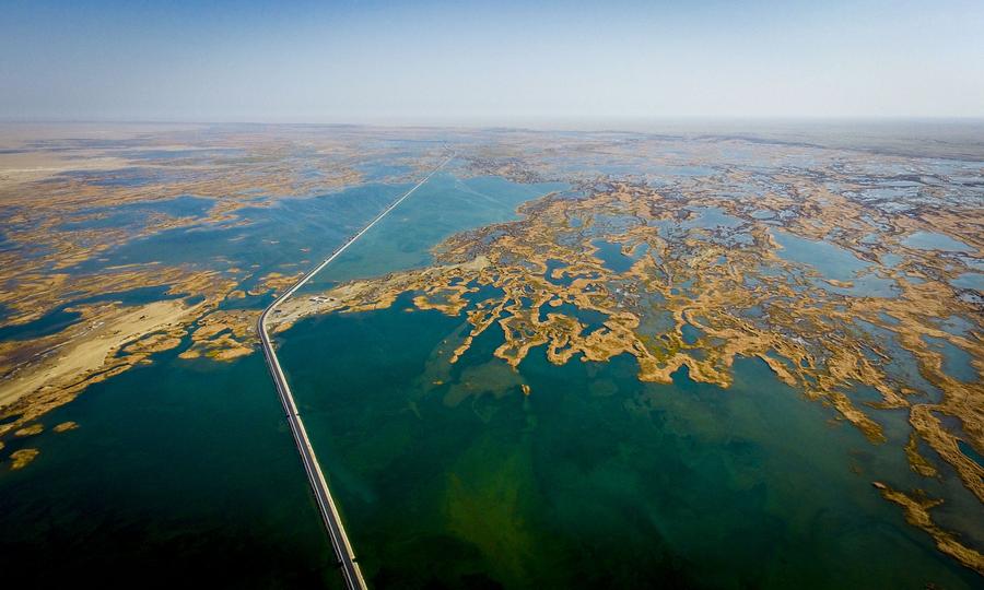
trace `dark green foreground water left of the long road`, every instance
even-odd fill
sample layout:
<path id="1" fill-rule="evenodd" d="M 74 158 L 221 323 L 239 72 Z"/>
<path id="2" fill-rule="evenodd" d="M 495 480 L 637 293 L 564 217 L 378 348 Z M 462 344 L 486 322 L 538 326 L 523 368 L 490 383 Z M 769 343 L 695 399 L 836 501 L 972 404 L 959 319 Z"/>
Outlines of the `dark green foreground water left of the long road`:
<path id="1" fill-rule="evenodd" d="M 21 471 L 0 472 L 10 588 L 341 588 L 262 358 L 177 351 L 46 415 Z M 80 427 L 50 428 L 63 421 Z M 140 580 L 134 582 L 134 580 Z"/>

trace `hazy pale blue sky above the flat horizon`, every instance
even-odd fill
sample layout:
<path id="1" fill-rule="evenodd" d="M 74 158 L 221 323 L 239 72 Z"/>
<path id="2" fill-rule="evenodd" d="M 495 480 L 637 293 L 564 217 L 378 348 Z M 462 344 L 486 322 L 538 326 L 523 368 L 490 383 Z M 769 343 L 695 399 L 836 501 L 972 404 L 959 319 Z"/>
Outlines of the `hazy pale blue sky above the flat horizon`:
<path id="1" fill-rule="evenodd" d="M 984 1 L 0 0 L 0 118 L 984 117 Z"/>

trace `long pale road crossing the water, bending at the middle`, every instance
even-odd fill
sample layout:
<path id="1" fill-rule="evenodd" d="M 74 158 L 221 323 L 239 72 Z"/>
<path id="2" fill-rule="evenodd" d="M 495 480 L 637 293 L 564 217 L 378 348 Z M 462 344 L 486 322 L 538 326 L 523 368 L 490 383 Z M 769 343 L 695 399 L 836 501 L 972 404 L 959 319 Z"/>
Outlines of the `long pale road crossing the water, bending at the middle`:
<path id="1" fill-rule="evenodd" d="M 362 237 L 366 232 L 368 232 L 374 225 L 376 225 L 379 220 L 389 214 L 390 211 L 396 209 L 401 202 L 403 202 L 408 197 L 413 194 L 413 192 L 423 186 L 424 182 L 431 179 L 434 174 L 437 173 L 441 168 L 447 165 L 455 157 L 455 153 L 452 154 L 441 163 L 436 168 L 431 170 L 423 180 L 418 182 L 413 188 L 403 193 L 402 197 L 393 202 L 388 208 L 386 208 L 382 213 L 379 213 L 373 221 L 368 223 L 365 227 L 363 227 L 358 234 L 349 238 L 343 245 L 341 245 L 338 249 L 331 252 L 331 256 L 326 258 L 320 264 L 315 267 L 311 272 L 301 278 L 300 281 L 294 283 L 294 285 L 289 288 L 283 295 L 278 297 L 269 307 L 263 309 L 263 312 L 260 314 L 259 320 L 256 324 L 256 330 L 260 335 L 260 344 L 263 349 L 263 356 L 267 358 L 267 367 L 270 369 L 270 375 L 273 377 L 273 384 L 277 386 L 277 393 L 280 396 L 280 401 L 283 403 L 283 409 L 286 412 L 288 424 L 291 427 L 291 433 L 294 435 L 294 442 L 297 444 L 297 450 L 301 453 L 301 461 L 304 463 L 304 470 L 307 472 L 307 480 L 311 482 L 312 491 L 314 492 L 315 499 L 318 504 L 318 509 L 321 512 L 321 518 L 325 521 L 325 528 L 328 529 L 328 535 L 331 538 L 331 546 L 335 550 L 335 557 L 341 567 L 342 576 L 345 580 L 345 586 L 350 590 L 365 590 L 365 579 L 362 577 L 362 570 L 359 568 L 359 564 L 355 563 L 355 554 L 352 552 L 352 544 L 349 542 L 349 535 L 345 534 L 345 529 L 342 526 L 341 516 L 338 514 L 338 508 L 335 505 L 335 499 L 331 497 L 331 491 L 328 489 L 328 482 L 325 480 L 325 474 L 321 472 L 321 465 L 318 463 L 317 457 L 315 457 L 314 447 L 311 445 L 311 439 L 307 437 L 307 430 L 304 428 L 304 422 L 301 421 L 301 414 L 297 412 L 297 404 L 294 402 L 294 396 L 291 393 L 291 387 L 288 385 L 286 376 L 283 374 L 283 369 L 280 368 L 280 361 L 277 358 L 277 352 L 273 350 L 273 342 L 270 340 L 270 334 L 267 331 L 267 318 L 270 316 L 273 310 L 277 309 L 277 306 L 286 300 L 291 295 L 293 295 L 298 288 L 304 286 L 315 274 L 321 271 L 325 267 L 327 267 L 332 260 L 338 258 L 345 249 L 351 246 L 356 239 Z"/>

